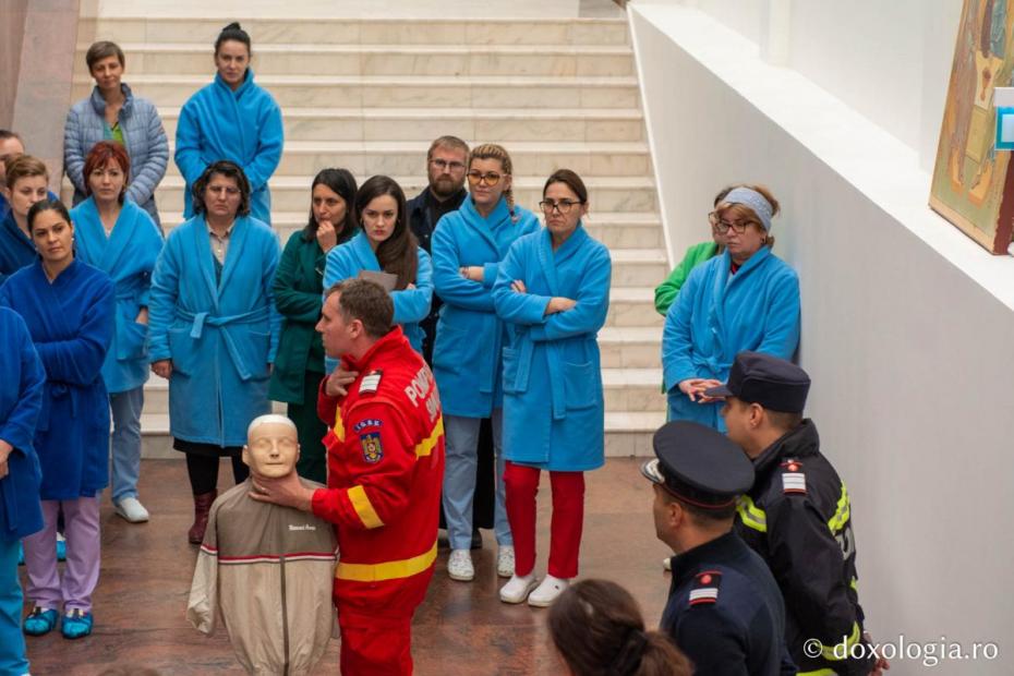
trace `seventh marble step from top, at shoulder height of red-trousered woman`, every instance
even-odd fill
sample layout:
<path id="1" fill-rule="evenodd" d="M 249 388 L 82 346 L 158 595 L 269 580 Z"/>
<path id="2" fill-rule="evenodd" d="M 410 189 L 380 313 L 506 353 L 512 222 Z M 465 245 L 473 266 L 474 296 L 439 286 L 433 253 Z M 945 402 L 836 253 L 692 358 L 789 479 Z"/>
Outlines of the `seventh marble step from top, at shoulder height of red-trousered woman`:
<path id="1" fill-rule="evenodd" d="M 183 221 L 180 212 L 166 212 L 159 209 L 162 229 L 168 234 L 172 228 Z M 310 215 L 310 200 L 307 196 L 305 212 L 275 212 L 271 215 L 271 225 L 278 231 L 278 239 L 282 244 L 297 230 L 306 226 Z M 611 214 L 594 212 L 584 221 L 589 233 L 609 248 L 617 249 L 657 249 L 665 246 L 662 237 L 662 226 L 654 214 Z M 651 282 L 652 285 L 656 281 Z"/>

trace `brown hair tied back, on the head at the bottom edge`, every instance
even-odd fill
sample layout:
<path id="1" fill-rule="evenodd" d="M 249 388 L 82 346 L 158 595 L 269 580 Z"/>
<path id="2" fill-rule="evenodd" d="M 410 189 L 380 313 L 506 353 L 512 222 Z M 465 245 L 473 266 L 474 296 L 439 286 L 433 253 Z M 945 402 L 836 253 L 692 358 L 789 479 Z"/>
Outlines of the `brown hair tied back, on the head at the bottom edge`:
<path id="1" fill-rule="evenodd" d="M 690 676 L 690 661 L 645 631 L 633 596 L 607 580 L 581 580 L 550 608 L 553 644 L 575 676 Z"/>

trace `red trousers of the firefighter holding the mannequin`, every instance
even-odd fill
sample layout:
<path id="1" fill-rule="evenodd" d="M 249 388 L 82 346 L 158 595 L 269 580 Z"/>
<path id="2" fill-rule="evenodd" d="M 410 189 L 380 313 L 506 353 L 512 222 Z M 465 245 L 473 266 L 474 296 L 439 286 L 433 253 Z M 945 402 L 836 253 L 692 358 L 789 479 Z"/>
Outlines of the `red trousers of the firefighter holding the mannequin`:
<path id="1" fill-rule="evenodd" d="M 343 676 L 411 676 L 412 616 L 378 617 L 338 608 Z"/>

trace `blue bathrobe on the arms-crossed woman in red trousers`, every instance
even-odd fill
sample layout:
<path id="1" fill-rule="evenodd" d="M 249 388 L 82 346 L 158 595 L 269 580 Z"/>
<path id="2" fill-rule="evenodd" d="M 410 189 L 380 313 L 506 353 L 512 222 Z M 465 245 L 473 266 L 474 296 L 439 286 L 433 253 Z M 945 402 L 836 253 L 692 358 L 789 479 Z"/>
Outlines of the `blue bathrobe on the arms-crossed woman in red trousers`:
<path id="1" fill-rule="evenodd" d="M 493 302 L 516 336 L 504 348 L 504 456 L 511 462 L 562 472 L 602 467 L 597 333 L 612 270 L 608 250 L 580 224 L 555 252 L 548 230 L 522 237 L 500 264 Z M 511 290 L 516 279 L 527 293 Z M 545 315 L 552 297 L 577 305 Z"/>

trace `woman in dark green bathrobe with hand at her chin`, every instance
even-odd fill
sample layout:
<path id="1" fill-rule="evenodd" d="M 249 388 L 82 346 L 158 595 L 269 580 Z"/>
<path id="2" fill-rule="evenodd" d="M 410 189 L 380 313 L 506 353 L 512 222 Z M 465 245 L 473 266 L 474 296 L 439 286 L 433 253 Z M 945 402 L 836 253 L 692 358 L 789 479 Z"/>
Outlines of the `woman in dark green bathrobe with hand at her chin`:
<path id="1" fill-rule="evenodd" d="M 317 387 L 324 377 L 324 346 L 314 329 L 321 317 L 327 252 L 348 241 L 358 227 L 352 214 L 355 179 L 346 169 L 325 169 L 313 180 L 310 220 L 293 232 L 275 275 L 275 305 L 285 317 L 268 397 L 289 405 L 299 428 L 300 476 L 327 483 L 327 454 L 317 418 Z"/>

